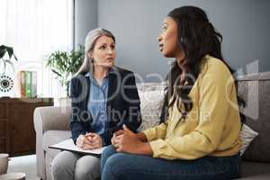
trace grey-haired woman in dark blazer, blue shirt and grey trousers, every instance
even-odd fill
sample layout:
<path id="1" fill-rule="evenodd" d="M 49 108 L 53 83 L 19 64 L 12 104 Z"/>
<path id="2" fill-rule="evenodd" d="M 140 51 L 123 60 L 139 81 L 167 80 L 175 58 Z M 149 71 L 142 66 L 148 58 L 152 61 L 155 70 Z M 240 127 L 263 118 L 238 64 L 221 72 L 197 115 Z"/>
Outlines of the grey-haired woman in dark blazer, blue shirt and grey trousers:
<path id="1" fill-rule="evenodd" d="M 112 32 L 95 29 L 85 39 L 85 61 L 71 79 L 70 129 L 76 146 L 101 148 L 111 144 L 112 134 L 127 124 L 140 124 L 139 94 L 132 72 L 114 66 Z M 62 151 L 51 166 L 55 180 L 100 178 L 100 158 Z"/>

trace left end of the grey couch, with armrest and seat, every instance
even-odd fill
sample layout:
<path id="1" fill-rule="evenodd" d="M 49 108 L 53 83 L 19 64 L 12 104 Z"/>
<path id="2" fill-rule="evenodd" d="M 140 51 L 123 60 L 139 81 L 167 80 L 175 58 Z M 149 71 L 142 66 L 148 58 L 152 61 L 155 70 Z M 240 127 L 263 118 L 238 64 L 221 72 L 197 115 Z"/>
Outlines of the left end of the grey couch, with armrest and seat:
<path id="1" fill-rule="evenodd" d="M 36 131 L 37 174 L 42 180 L 50 180 L 50 163 L 59 150 L 48 148 L 71 137 L 69 116 L 71 107 L 39 107 L 34 111 Z"/>

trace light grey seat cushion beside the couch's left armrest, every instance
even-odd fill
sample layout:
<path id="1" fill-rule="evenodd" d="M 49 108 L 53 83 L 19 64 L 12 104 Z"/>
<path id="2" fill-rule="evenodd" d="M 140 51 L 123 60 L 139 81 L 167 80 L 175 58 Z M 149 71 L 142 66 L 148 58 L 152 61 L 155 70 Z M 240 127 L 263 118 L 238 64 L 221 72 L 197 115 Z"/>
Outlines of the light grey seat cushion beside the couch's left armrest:
<path id="1" fill-rule="evenodd" d="M 42 148 L 46 153 L 49 153 L 50 157 L 55 157 L 60 150 L 49 148 L 49 145 L 56 144 L 62 140 L 69 139 L 70 137 L 70 130 L 47 130 L 42 138 Z"/>

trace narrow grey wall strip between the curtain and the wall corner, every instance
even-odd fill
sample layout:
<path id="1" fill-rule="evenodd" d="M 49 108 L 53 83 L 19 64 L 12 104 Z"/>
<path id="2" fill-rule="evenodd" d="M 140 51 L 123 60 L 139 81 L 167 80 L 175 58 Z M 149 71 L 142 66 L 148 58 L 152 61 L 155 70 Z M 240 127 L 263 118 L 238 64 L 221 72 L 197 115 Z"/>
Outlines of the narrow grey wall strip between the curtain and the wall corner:
<path id="1" fill-rule="evenodd" d="M 97 27 L 97 0 L 75 0 L 75 47 L 85 44 L 89 30 Z"/>

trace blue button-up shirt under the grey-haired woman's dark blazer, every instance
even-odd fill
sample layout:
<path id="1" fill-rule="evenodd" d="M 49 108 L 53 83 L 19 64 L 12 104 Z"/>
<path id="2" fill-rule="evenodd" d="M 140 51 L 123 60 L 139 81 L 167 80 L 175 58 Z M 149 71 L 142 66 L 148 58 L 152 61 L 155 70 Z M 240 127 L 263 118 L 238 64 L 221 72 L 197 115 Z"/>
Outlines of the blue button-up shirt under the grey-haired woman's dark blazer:
<path id="1" fill-rule="evenodd" d="M 95 130 L 95 133 L 102 134 L 106 130 L 107 123 L 106 103 L 109 84 L 108 76 L 103 78 L 101 85 L 97 83 L 94 76 L 89 72 L 85 76 L 89 76 L 90 80 L 90 94 L 87 110 L 93 117 L 91 126 Z"/>

